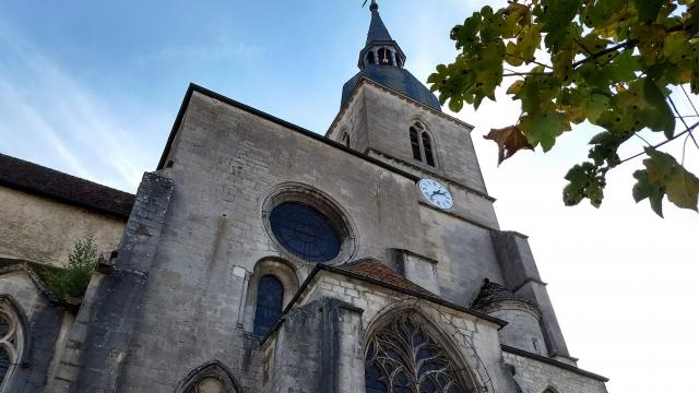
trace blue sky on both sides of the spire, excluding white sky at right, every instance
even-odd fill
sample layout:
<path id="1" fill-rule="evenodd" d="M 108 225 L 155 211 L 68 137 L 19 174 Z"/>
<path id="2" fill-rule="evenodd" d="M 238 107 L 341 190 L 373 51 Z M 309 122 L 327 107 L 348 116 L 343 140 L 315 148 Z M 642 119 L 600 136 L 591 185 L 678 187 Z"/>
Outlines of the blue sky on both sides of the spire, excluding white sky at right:
<path id="1" fill-rule="evenodd" d="M 448 52 L 463 11 L 447 4 L 452 12 L 429 17 L 419 17 L 430 9 L 420 1 L 382 11 L 408 53 L 422 55 L 429 36 Z M 368 23 L 359 5 L 3 1 L 0 151 L 133 191 L 155 167 L 189 82 L 322 133 L 357 71 Z M 414 71 L 425 79 L 423 64 Z"/>

